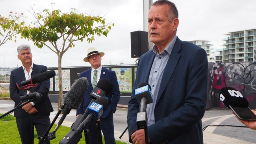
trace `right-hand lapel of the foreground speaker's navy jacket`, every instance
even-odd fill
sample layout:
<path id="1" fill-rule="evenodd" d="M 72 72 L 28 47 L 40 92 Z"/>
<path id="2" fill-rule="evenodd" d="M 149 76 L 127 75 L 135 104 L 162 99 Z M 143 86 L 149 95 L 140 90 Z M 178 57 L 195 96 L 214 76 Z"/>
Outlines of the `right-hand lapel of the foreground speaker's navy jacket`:
<path id="1" fill-rule="evenodd" d="M 182 41 L 180 41 L 180 39 L 178 39 L 178 37 L 177 37 L 175 44 L 173 46 L 171 55 L 170 55 L 170 57 L 167 61 L 167 64 L 165 66 L 165 70 L 163 71 L 163 77 L 161 79 L 160 90 L 158 92 L 158 97 L 156 99 L 156 103 L 158 102 L 161 95 L 163 94 L 163 91 L 165 90 L 165 87 L 167 86 L 169 80 L 171 79 L 174 69 L 180 59 L 180 54 L 178 52 L 181 49 L 181 44 L 182 44 Z"/>

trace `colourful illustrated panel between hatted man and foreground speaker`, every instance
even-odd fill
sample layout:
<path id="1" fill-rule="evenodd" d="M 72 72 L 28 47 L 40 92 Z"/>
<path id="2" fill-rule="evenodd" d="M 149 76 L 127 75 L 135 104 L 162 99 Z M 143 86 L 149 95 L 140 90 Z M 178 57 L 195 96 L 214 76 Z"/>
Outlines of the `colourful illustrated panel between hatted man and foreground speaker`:
<path id="1" fill-rule="evenodd" d="M 112 68 L 117 75 L 120 92 L 132 92 L 132 68 Z"/>

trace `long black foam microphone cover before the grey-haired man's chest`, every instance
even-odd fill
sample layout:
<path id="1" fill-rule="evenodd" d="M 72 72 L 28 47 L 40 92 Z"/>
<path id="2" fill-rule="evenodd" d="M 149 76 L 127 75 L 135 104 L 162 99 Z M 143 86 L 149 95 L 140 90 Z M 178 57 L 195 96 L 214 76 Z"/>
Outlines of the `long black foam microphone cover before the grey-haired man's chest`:
<path id="1" fill-rule="evenodd" d="M 54 70 L 49 70 L 47 72 L 42 72 L 40 74 L 37 74 L 35 76 L 32 76 L 32 82 L 33 83 L 39 83 L 41 81 L 45 81 L 46 79 L 50 79 L 52 77 L 54 77 L 56 74 L 54 72 Z"/>

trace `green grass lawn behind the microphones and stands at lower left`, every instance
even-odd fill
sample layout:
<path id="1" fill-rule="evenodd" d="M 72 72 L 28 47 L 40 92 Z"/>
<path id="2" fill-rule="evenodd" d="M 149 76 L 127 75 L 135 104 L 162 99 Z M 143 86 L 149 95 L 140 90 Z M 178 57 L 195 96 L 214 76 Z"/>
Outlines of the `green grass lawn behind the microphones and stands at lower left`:
<path id="1" fill-rule="evenodd" d="M 0 114 L 2 115 L 2 114 Z M 20 136 L 19 136 L 19 131 L 17 129 L 17 125 L 16 125 L 16 120 L 14 116 L 6 116 L 2 119 L 0 119 L 0 144 L 21 144 L 20 141 Z M 52 132 L 54 130 L 54 128 L 56 127 L 56 125 L 54 124 L 54 126 L 52 127 L 52 129 L 50 130 L 50 132 Z M 37 139 L 37 133 L 36 130 L 35 131 L 35 139 L 34 139 L 34 143 L 37 144 L 38 143 L 38 139 Z M 65 127 L 65 126 L 60 126 L 58 131 L 56 132 L 56 138 L 51 140 L 51 144 L 58 144 L 59 141 L 70 131 L 70 127 Z M 82 138 L 80 140 L 80 142 L 78 142 L 78 144 L 85 144 L 85 139 L 84 139 L 84 134 L 82 133 Z M 104 142 L 104 138 L 102 137 L 103 140 L 103 144 Z M 116 140 L 116 144 L 126 144 L 124 142 L 121 142 L 119 140 Z"/>

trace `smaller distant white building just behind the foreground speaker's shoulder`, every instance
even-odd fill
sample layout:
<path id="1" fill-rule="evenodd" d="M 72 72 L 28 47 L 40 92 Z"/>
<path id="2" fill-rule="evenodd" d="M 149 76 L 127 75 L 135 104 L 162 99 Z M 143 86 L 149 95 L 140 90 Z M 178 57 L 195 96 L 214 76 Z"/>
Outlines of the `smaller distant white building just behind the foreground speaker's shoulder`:
<path id="1" fill-rule="evenodd" d="M 213 48 L 211 48 L 211 46 L 213 46 L 213 44 L 209 44 L 209 41 L 200 41 L 200 40 L 195 40 L 195 41 L 190 41 L 193 44 L 196 44 L 198 46 L 200 46 L 201 48 L 203 48 L 206 51 L 207 57 L 208 57 L 208 62 L 215 62 L 215 57 L 214 57 L 214 52 L 211 52 L 213 50 Z"/>

